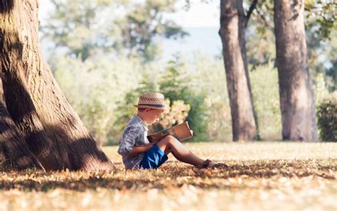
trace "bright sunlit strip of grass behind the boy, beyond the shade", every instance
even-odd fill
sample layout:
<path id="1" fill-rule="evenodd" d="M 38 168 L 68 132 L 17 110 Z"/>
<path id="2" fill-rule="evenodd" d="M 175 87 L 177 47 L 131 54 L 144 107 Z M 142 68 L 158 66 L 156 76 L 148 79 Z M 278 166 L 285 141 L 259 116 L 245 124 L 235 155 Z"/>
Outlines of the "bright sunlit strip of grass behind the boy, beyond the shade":
<path id="1" fill-rule="evenodd" d="M 186 143 L 201 158 L 215 161 L 254 160 L 309 160 L 337 158 L 337 144 L 298 142 L 252 142 L 252 143 Z M 103 150 L 112 161 L 122 162 L 118 146 L 105 146 Z M 173 156 L 170 159 L 174 161 Z"/>

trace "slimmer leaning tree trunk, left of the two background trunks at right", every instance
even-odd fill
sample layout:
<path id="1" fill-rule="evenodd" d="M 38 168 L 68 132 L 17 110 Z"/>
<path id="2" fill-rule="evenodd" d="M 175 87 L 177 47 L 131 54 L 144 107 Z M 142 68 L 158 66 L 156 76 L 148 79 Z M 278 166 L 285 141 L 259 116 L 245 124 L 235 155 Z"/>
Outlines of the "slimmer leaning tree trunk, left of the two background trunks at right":
<path id="1" fill-rule="evenodd" d="M 233 141 L 252 140 L 257 136 L 250 78 L 245 48 L 245 13 L 242 0 L 220 2 L 220 37 L 223 42 Z"/>

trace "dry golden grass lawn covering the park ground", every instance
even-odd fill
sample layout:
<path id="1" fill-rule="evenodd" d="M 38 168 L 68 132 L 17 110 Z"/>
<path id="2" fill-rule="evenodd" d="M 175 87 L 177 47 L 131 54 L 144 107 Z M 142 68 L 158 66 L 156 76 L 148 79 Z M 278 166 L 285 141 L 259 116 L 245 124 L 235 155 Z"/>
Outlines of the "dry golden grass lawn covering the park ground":
<path id="1" fill-rule="evenodd" d="M 335 143 L 193 143 L 228 169 L 198 170 L 170 156 L 159 170 L 0 173 L 0 210 L 337 210 Z"/>

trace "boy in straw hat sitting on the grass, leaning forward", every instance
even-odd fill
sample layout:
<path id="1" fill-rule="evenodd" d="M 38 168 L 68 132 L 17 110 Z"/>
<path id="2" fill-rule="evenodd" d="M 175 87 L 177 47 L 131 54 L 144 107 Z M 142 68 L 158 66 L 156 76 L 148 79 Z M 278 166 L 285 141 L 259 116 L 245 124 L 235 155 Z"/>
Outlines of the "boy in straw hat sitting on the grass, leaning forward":
<path id="1" fill-rule="evenodd" d="M 214 168 L 218 164 L 203 160 L 194 155 L 173 136 L 165 136 L 157 142 L 149 143 L 147 125 L 154 124 L 159 115 L 167 109 L 164 105 L 164 95 L 156 92 L 141 94 L 134 114 L 125 126 L 119 141 L 118 153 L 122 155 L 127 169 L 159 168 L 167 161 L 167 155 L 172 153 L 178 161 L 189 163 L 197 168 Z"/>

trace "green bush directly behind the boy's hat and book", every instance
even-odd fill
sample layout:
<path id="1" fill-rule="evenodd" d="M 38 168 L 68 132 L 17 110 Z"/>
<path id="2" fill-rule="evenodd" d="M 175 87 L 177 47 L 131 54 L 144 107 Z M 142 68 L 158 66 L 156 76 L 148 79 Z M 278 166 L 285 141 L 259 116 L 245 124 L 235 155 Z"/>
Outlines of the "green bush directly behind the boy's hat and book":
<path id="1" fill-rule="evenodd" d="M 207 126 L 205 121 L 204 96 L 195 94 L 188 87 L 190 80 L 191 76 L 187 74 L 184 63 L 176 58 L 176 60 L 169 61 L 168 66 L 158 75 L 157 79 L 154 77 L 153 72 L 150 74 L 145 73 L 139 87 L 125 95 L 124 103 L 128 106 L 137 104 L 139 94 L 144 92 L 161 92 L 166 99 L 169 99 L 171 112 L 178 111 L 178 113 L 170 117 L 174 120 L 173 124 L 164 124 L 163 117 L 161 117 L 162 124 L 159 122 L 159 124 L 150 126 L 150 132 L 164 129 L 164 126 L 178 124 L 181 121 L 181 115 L 187 109 L 188 117 L 185 120 L 188 121 L 194 131 L 195 136 L 193 137 L 193 141 L 205 141 L 207 139 Z M 179 104 L 180 106 L 178 107 Z M 136 112 L 136 109 L 123 106 L 119 106 L 119 108 L 122 111 L 122 114 L 119 115 L 119 122 L 123 123 L 121 125 L 124 126 L 132 114 Z"/>

